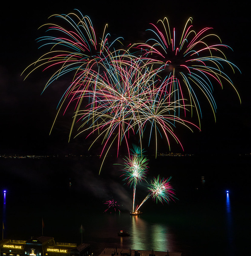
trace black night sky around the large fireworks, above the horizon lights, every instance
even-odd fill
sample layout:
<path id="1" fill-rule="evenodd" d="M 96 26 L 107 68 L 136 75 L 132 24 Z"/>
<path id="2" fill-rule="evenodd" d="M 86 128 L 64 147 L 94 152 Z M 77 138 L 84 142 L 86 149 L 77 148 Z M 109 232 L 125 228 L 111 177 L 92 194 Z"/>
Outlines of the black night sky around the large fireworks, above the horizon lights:
<path id="1" fill-rule="evenodd" d="M 223 44 L 233 48 L 227 58 L 242 74 L 230 74 L 242 103 L 230 86 L 215 90 L 216 123 L 211 112 L 202 118 L 202 131 L 178 131 L 186 153 L 190 152 L 251 152 L 250 96 L 250 19 L 247 1 L 215 4 L 203 1 L 50 1 L 14 3 L 1 7 L 0 58 L 0 154 L 36 154 L 84 152 L 89 143 L 79 136 L 68 143 L 70 116 L 59 118 L 49 136 L 61 97 L 61 88 L 53 84 L 41 95 L 47 77 L 38 71 L 26 81 L 22 71 L 39 56 L 36 38 L 43 36 L 38 27 L 52 14 L 67 14 L 79 9 L 91 18 L 97 30 L 108 23 L 112 36 L 125 40 L 141 39 L 148 24 L 168 17 L 172 26 L 183 28 L 189 17 L 194 28 L 213 27 Z M 172 2 L 172 3 L 171 3 Z M 95 149 L 95 148 L 94 148 Z M 171 151 L 180 150 L 171 145 Z M 166 150 L 167 151 L 167 150 Z"/>

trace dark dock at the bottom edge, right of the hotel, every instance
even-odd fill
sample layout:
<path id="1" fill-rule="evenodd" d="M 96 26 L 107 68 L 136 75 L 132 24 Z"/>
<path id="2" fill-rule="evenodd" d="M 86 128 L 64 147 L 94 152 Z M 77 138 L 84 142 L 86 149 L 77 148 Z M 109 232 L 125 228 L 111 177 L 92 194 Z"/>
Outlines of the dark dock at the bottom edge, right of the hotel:
<path id="1" fill-rule="evenodd" d="M 160 251 L 146 251 L 146 250 L 133 250 L 121 248 L 105 248 L 99 256 L 181 256 L 181 252 L 160 252 Z"/>

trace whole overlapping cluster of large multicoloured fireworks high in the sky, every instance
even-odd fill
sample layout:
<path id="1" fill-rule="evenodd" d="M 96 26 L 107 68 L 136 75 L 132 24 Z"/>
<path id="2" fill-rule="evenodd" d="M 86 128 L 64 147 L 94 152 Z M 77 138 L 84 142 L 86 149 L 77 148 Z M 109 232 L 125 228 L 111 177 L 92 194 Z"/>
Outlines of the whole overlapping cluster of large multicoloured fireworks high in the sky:
<path id="1" fill-rule="evenodd" d="M 211 28 L 196 33 L 192 30 L 192 18 L 188 19 L 179 43 L 176 30 L 170 30 L 164 18 L 158 26 L 152 24 L 153 38 L 126 50 L 120 38 L 110 42 L 107 25 L 97 39 L 90 18 L 76 12 L 53 15 L 50 18 L 58 23 L 42 26 L 47 28 L 47 34 L 38 42 L 41 47 L 48 46 L 49 51 L 24 72 L 29 76 L 39 68 L 51 70 L 45 88 L 59 78 L 71 77 L 55 120 L 73 106 L 69 140 L 74 137 L 76 126 L 77 135 L 95 137 L 91 146 L 101 139 L 103 162 L 115 144 L 117 155 L 122 144 L 129 152 L 131 135 L 138 139 L 141 148 L 143 135 L 148 137 L 148 146 L 154 140 L 156 154 L 158 134 L 166 139 L 169 148 L 171 138 L 182 147 L 174 128 L 181 124 L 192 130 L 190 127 L 196 126 L 183 120 L 181 113 L 186 118 L 186 112 L 193 116 L 195 109 L 200 126 L 202 111 L 196 90 L 199 88 L 206 96 L 215 115 L 213 84 L 222 87 L 225 80 L 233 86 L 223 72 L 225 64 L 236 68 L 224 55 L 223 48 L 227 46 L 208 43 L 211 38 L 219 38 L 209 33 Z"/>

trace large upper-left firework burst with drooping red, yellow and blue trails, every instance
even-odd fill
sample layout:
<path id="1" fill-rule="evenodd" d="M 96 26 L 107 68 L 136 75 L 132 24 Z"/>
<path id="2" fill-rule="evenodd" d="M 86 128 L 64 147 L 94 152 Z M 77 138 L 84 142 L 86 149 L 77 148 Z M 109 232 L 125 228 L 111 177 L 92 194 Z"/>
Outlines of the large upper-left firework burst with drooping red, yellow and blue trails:
<path id="1" fill-rule="evenodd" d="M 97 70 L 103 59 L 109 55 L 113 43 L 119 40 L 117 38 L 114 42 L 109 42 L 109 34 L 106 33 L 107 25 L 102 38 L 97 39 L 90 18 L 83 16 L 78 10 L 76 13 L 52 15 L 49 19 L 55 19 L 57 22 L 41 26 L 46 28 L 47 35 L 38 38 L 38 42 L 42 44 L 40 47 L 49 47 L 49 52 L 30 65 L 28 70 L 32 66 L 35 68 L 30 73 L 37 68 L 56 69 L 45 88 L 59 76 L 65 76 L 68 73 L 73 74 L 72 86 L 85 80 L 84 78 L 89 75 L 89 69 Z"/>

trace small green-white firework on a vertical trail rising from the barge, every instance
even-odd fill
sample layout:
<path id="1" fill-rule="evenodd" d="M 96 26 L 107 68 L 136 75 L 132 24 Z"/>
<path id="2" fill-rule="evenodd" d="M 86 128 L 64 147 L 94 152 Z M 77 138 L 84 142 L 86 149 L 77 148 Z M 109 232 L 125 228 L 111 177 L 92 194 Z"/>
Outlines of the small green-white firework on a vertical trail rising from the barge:
<path id="1" fill-rule="evenodd" d="M 136 185 L 138 182 L 145 180 L 147 172 L 147 158 L 143 156 L 143 151 L 140 147 L 133 145 L 132 154 L 125 159 L 123 176 L 128 185 L 133 185 L 133 204 L 132 212 L 134 212 L 134 202 L 136 194 Z"/>

